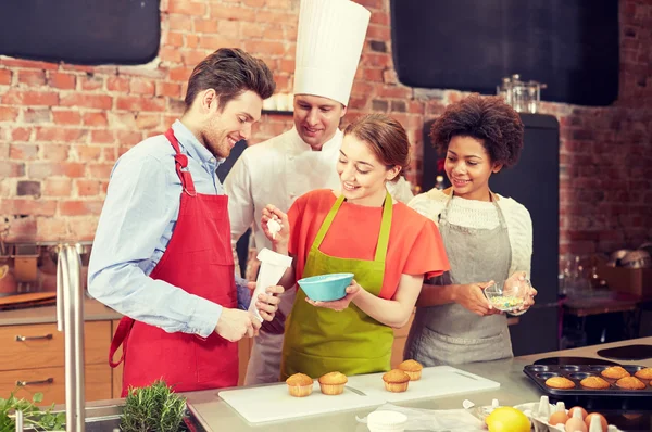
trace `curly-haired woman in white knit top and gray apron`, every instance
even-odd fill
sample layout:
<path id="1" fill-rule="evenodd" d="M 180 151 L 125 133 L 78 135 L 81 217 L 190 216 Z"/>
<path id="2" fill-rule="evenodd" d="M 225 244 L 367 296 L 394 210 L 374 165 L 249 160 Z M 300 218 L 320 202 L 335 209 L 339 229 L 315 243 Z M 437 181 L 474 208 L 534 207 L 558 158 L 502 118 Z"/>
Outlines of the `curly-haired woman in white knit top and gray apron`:
<path id="1" fill-rule="evenodd" d="M 448 106 L 430 138 L 446 154 L 452 187 L 415 196 L 410 206 L 438 224 L 450 271 L 424 283 L 405 358 L 425 366 L 512 357 L 507 320 L 482 290 L 529 276 L 532 227 L 528 211 L 493 193 L 489 178 L 518 161 L 523 123 L 499 97 L 473 94 Z M 525 292 L 518 315 L 534 304 Z"/>

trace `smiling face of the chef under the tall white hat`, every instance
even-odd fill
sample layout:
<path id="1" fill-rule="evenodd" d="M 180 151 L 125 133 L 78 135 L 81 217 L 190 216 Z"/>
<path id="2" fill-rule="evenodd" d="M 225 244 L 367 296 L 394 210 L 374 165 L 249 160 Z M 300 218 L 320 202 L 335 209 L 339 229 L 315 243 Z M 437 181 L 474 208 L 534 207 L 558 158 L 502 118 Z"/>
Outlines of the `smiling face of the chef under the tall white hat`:
<path id="1" fill-rule="evenodd" d="M 294 96 L 294 126 L 299 136 L 313 150 L 330 140 L 347 109 L 333 99 L 312 94 Z"/>

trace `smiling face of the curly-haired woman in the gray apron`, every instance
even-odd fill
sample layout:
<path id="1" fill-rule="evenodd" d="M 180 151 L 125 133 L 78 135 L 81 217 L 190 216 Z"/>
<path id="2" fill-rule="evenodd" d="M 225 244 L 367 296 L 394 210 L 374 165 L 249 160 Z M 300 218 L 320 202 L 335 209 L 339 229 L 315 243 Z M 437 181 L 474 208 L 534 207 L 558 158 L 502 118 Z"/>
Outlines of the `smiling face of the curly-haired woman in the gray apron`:
<path id="1" fill-rule="evenodd" d="M 489 177 L 502 165 L 491 162 L 482 142 L 467 136 L 451 138 L 443 169 L 455 195 L 467 200 L 490 201 Z"/>

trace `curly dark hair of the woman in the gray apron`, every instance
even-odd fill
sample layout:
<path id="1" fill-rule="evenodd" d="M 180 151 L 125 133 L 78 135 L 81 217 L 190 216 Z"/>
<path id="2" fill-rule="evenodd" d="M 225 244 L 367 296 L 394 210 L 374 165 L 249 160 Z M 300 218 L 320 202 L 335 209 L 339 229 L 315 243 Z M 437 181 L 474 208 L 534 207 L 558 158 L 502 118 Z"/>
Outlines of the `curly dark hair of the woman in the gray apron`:
<path id="1" fill-rule="evenodd" d="M 441 154 L 456 136 L 481 141 L 492 163 L 510 167 L 523 149 L 523 122 L 501 97 L 472 94 L 447 106 L 430 128 L 432 145 Z"/>

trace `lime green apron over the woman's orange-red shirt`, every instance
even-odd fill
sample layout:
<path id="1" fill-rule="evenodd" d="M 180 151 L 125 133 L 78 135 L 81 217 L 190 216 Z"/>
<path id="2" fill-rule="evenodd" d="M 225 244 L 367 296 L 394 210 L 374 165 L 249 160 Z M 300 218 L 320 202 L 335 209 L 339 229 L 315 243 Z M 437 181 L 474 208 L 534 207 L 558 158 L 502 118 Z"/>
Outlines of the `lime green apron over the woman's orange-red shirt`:
<path id="1" fill-rule="evenodd" d="M 365 291 L 378 295 L 383 288 L 391 227 L 391 196 L 388 193 L 385 198 L 374 261 L 338 258 L 319 251 L 343 201 L 343 195 L 340 195 L 324 219 L 308 254 L 303 277 L 352 272 Z M 305 293 L 298 287 L 292 312 L 286 322 L 281 380 L 298 372 L 318 378 L 336 370 L 347 376 L 386 371 L 390 369 L 393 330 L 353 303 L 342 312 L 315 307 L 305 302 Z"/>

